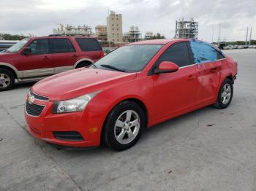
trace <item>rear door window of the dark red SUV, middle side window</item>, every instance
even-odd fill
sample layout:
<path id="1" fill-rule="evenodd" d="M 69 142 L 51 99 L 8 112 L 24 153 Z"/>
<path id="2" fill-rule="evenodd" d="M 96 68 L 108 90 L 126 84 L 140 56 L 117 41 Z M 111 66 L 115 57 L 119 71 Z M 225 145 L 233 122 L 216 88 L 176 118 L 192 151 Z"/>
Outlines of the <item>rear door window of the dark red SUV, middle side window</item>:
<path id="1" fill-rule="evenodd" d="M 51 39 L 53 44 L 53 53 L 75 52 L 69 39 Z"/>

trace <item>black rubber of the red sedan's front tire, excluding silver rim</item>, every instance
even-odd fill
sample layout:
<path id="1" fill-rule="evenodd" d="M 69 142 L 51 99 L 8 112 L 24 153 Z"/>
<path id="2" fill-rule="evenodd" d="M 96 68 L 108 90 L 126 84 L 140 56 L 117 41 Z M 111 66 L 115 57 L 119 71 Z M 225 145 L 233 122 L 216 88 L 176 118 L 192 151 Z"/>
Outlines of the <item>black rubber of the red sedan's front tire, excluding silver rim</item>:
<path id="1" fill-rule="evenodd" d="M 124 112 L 127 112 L 127 111 L 132 111 L 132 112 L 135 112 L 136 114 L 138 114 L 138 116 L 137 115 L 136 116 L 139 117 L 138 121 L 139 121 L 140 126 L 138 128 L 137 135 L 134 136 L 134 139 L 132 139 L 127 144 L 125 144 L 125 143 L 120 143 L 116 139 L 116 130 L 118 128 L 118 127 L 116 127 L 116 121 L 118 119 L 120 119 L 119 117 L 122 116 L 121 114 L 123 114 Z M 132 115 L 135 113 L 132 113 Z M 131 117 L 131 120 L 132 120 L 132 117 Z M 136 144 L 136 142 L 140 139 L 142 129 L 145 128 L 145 126 L 146 126 L 146 114 L 143 111 L 143 109 L 141 109 L 141 107 L 133 101 L 123 101 L 120 104 L 118 104 L 117 106 L 115 106 L 112 109 L 112 111 L 110 112 L 110 114 L 108 114 L 108 117 L 105 121 L 105 127 L 104 127 L 104 131 L 103 131 L 103 135 L 102 135 L 103 141 L 105 142 L 105 144 L 108 147 L 110 147 L 110 149 L 114 149 L 117 151 L 129 149 L 134 144 Z M 124 128 L 120 128 L 120 129 L 124 130 Z M 128 136 L 128 133 L 125 136 Z M 124 138 L 125 138 L 125 136 L 124 136 Z M 126 139 L 123 139 L 123 140 L 126 140 Z M 129 138 L 127 140 L 129 140 Z"/>

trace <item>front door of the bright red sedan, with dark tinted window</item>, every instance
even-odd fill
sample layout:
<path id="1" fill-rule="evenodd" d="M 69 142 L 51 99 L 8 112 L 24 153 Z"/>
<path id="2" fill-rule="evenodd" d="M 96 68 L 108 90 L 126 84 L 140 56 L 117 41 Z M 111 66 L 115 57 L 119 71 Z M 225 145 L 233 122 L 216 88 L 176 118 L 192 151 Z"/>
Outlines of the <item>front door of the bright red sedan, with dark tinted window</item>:
<path id="1" fill-rule="evenodd" d="M 154 112 L 157 119 L 183 112 L 195 106 L 197 70 L 189 54 L 188 42 L 171 45 L 159 58 L 154 67 L 162 61 L 171 61 L 179 66 L 173 73 L 154 74 Z"/>

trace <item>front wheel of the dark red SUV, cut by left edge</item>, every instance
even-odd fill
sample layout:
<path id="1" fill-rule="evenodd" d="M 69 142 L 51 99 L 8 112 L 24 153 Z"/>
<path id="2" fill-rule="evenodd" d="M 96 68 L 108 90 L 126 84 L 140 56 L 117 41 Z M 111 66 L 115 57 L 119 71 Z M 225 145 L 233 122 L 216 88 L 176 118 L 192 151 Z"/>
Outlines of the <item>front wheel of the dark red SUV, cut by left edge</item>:
<path id="1" fill-rule="evenodd" d="M 4 77 L 2 77 L 2 75 Z M 5 82 L 4 82 L 5 80 Z M 11 90 L 15 85 L 15 77 L 7 69 L 0 69 L 0 91 Z"/>

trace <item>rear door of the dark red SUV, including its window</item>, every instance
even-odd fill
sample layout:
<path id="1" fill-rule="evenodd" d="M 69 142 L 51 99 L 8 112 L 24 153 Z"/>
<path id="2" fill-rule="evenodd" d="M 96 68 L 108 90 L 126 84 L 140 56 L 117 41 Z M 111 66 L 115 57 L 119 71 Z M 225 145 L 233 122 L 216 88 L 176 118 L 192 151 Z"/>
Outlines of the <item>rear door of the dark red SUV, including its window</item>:
<path id="1" fill-rule="evenodd" d="M 56 73 L 73 69 L 75 62 L 78 60 L 78 55 L 70 40 L 67 38 L 54 38 L 50 39 L 50 44 Z"/>

